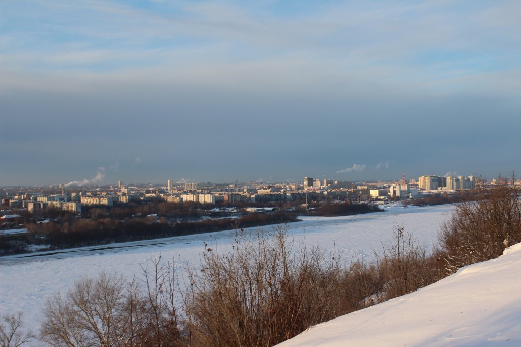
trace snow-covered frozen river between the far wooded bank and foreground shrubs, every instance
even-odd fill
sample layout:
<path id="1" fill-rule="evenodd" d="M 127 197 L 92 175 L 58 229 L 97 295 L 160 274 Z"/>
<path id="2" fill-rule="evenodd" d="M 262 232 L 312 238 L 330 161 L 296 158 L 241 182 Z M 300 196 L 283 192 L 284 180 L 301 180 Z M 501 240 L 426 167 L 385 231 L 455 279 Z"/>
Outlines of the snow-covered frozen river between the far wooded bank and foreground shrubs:
<path id="1" fill-rule="evenodd" d="M 305 237 L 308 246 L 334 250 L 342 253 L 344 259 L 370 260 L 375 251 L 381 250 L 381 244 L 392 237 L 394 224 L 403 225 L 418 242 L 431 247 L 441 222 L 450 218 L 451 212 L 450 205 L 406 208 L 392 205 L 382 213 L 301 217 L 302 221 L 290 224 L 289 230 L 297 244 Z M 274 227 L 264 227 L 270 228 Z M 0 258 L 0 312 L 21 310 L 26 326 L 38 329 L 44 299 L 66 292 L 84 276 L 97 276 L 106 270 L 130 278 L 141 272 L 141 265 L 150 264 L 150 258 L 160 254 L 165 261 L 174 261 L 180 266 L 187 262 L 197 264 L 205 243 L 211 244 L 214 251 L 225 252 L 231 249 L 230 242 L 230 232 L 220 231 L 211 233 L 211 237 L 206 233 Z"/>

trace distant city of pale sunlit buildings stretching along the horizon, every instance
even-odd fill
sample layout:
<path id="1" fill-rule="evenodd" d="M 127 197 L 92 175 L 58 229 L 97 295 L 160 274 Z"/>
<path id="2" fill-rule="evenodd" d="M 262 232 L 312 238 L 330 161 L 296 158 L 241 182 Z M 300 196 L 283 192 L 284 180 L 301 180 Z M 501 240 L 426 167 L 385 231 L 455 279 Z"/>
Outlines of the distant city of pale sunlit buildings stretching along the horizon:
<path id="1" fill-rule="evenodd" d="M 27 208 L 36 213 L 48 208 L 81 213 L 82 206 L 163 200 L 169 203 L 201 203 L 233 205 L 237 203 L 270 203 L 314 199 L 324 195 L 352 202 L 384 203 L 415 199 L 425 194 L 454 193 L 476 187 L 474 176 L 424 175 L 418 179 L 393 181 L 350 181 L 304 177 L 300 182 L 266 183 L 258 181 L 212 183 L 180 182 L 169 179 L 165 184 L 126 184 L 118 181 L 105 185 L 66 185 L 51 187 L 17 187 L 0 190 L 4 206 Z M 497 179 L 479 184 L 497 184 Z M 508 182 L 506 182 L 508 183 Z"/>

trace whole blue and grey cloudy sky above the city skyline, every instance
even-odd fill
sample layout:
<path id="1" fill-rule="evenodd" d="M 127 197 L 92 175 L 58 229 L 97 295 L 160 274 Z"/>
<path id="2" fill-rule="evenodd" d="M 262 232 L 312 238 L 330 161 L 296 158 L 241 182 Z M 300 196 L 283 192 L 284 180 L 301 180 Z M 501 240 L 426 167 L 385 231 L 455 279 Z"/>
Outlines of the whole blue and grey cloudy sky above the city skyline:
<path id="1" fill-rule="evenodd" d="M 0 185 L 521 172 L 519 1 L 0 1 Z"/>

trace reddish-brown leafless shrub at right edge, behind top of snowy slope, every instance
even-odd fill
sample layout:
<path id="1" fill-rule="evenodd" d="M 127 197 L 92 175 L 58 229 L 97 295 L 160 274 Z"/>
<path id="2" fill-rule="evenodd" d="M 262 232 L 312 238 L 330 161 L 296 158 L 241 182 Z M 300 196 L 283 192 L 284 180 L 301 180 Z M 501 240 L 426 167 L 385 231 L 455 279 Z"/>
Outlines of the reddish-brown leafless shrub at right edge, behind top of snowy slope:
<path id="1" fill-rule="evenodd" d="M 440 243 L 445 269 L 497 258 L 505 247 L 521 242 L 521 189 L 499 178 L 492 188 L 478 186 L 472 198 L 455 205 L 452 218 L 442 225 Z"/>

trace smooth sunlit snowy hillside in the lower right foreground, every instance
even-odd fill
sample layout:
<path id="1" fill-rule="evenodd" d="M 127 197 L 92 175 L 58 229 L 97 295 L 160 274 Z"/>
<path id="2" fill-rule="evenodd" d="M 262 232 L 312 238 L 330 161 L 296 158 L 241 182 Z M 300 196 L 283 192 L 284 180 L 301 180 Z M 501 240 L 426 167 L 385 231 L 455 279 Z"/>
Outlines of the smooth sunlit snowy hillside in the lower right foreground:
<path id="1" fill-rule="evenodd" d="M 289 346 L 521 345 L 521 244 L 414 293 L 332 319 Z"/>

